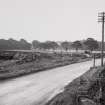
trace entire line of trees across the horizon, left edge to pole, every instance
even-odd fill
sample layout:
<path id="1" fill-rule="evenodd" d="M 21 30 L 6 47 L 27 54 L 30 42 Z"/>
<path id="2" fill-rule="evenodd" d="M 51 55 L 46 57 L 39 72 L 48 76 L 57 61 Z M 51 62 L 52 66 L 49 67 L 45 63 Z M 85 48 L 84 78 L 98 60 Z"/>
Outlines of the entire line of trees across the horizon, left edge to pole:
<path id="1" fill-rule="evenodd" d="M 30 49 L 43 49 L 43 50 L 57 50 L 63 49 L 65 51 L 75 49 L 78 51 L 81 50 L 100 50 L 101 43 L 93 38 L 87 38 L 86 40 L 82 41 L 63 41 L 63 42 L 56 42 L 56 41 L 45 41 L 40 42 L 38 40 L 33 40 L 32 43 L 27 42 L 25 39 L 20 39 L 19 41 L 14 39 L 0 39 L 0 49 L 1 50 L 30 50 Z"/>

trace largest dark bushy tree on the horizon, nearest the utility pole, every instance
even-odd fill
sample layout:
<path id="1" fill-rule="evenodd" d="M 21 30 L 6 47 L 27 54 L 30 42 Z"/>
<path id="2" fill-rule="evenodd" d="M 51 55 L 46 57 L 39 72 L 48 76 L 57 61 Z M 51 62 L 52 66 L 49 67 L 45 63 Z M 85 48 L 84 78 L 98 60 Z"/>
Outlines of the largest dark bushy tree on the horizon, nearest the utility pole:
<path id="1" fill-rule="evenodd" d="M 88 50 L 93 51 L 99 48 L 98 42 L 93 38 L 88 38 L 84 44 L 87 46 Z"/>

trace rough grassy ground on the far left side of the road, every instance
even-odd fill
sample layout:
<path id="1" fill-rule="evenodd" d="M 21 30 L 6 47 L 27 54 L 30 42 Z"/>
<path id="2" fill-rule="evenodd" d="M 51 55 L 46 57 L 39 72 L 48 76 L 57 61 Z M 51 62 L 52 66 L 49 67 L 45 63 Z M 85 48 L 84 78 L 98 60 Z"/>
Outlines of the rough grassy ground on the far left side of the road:
<path id="1" fill-rule="evenodd" d="M 0 52 L 0 80 L 89 60 L 83 54 Z"/>

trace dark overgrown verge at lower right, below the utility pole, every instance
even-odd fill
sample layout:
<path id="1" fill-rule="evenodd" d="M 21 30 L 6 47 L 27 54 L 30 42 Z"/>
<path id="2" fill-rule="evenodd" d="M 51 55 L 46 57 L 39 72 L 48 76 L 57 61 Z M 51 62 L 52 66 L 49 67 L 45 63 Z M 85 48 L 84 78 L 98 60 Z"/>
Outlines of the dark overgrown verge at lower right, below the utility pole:
<path id="1" fill-rule="evenodd" d="M 46 105 L 105 105 L 105 67 L 91 68 Z"/>

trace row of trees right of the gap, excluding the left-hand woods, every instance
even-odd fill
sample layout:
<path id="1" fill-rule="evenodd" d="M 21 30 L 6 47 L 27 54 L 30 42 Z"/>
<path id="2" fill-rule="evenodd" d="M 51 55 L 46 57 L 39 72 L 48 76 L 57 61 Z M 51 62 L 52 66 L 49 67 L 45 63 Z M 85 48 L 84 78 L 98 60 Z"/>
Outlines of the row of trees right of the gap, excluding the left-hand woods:
<path id="1" fill-rule="evenodd" d="M 100 42 L 93 38 L 87 38 L 83 41 L 74 41 L 74 42 L 55 42 L 55 41 L 46 41 L 46 42 L 39 42 L 37 40 L 32 41 L 32 45 L 34 49 L 63 49 L 65 51 L 75 49 L 76 51 L 80 50 L 100 50 Z"/>

